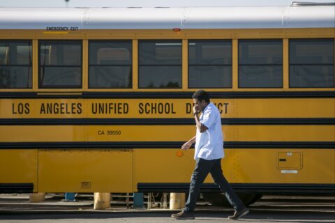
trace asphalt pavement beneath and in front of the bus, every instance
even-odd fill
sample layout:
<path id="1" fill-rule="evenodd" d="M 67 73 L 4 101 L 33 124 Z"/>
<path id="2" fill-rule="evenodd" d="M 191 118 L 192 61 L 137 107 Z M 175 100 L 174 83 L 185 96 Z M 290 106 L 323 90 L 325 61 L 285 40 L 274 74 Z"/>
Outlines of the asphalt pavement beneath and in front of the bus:
<path id="1" fill-rule="evenodd" d="M 29 203 L 29 194 L 0 194 L 0 222 L 232 222 L 232 208 L 211 206 L 200 201 L 195 220 L 175 220 L 179 210 L 163 208 L 132 209 L 123 201 L 112 201 L 111 208 L 93 209 L 93 196 L 81 194 L 77 201 L 47 194 L 45 201 Z M 335 222 L 335 197 L 263 197 L 249 206 L 251 212 L 238 222 Z"/>

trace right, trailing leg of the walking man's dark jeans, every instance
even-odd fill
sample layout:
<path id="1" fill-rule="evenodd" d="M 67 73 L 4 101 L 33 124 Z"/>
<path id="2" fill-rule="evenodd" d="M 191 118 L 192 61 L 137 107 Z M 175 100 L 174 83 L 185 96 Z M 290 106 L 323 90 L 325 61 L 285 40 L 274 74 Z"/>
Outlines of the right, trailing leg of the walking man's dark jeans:
<path id="1" fill-rule="evenodd" d="M 242 210 L 245 208 L 244 203 L 242 203 L 241 199 L 237 197 L 230 184 L 223 176 L 223 172 L 221 169 L 221 159 L 216 160 L 213 168 L 210 171 L 211 177 L 214 182 L 220 187 L 220 189 L 224 192 L 225 197 L 227 197 L 229 203 L 234 207 L 235 210 Z"/>

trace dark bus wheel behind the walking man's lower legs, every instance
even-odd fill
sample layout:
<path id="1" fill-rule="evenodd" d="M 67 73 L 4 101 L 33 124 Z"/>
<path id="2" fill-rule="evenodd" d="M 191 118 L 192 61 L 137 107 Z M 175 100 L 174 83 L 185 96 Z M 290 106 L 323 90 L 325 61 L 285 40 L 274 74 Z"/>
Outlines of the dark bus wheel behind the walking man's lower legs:
<path id="1" fill-rule="evenodd" d="M 262 194 L 253 194 L 246 192 L 237 192 L 236 194 L 245 206 L 255 203 L 256 201 L 258 201 L 258 199 L 262 197 Z M 223 193 L 202 193 L 202 197 L 205 201 L 211 203 L 214 206 L 231 207 L 230 203 L 225 197 L 225 194 Z"/>

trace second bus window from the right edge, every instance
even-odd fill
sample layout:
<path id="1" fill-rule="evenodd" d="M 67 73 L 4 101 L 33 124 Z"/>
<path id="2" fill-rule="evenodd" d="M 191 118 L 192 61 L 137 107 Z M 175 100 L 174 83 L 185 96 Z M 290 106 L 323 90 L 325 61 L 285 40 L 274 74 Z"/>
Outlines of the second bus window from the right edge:
<path id="1" fill-rule="evenodd" d="M 239 88 L 283 87 L 283 40 L 239 40 Z"/>

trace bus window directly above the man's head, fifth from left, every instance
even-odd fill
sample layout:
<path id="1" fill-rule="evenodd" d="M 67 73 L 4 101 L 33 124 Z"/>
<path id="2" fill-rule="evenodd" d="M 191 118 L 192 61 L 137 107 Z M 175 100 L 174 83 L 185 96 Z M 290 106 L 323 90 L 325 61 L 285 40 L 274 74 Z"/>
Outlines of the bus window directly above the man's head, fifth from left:
<path id="1" fill-rule="evenodd" d="M 232 87 L 232 40 L 188 41 L 188 87 Z"/>

